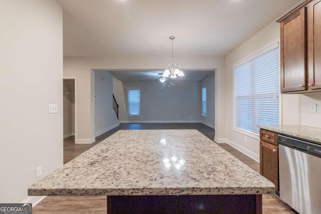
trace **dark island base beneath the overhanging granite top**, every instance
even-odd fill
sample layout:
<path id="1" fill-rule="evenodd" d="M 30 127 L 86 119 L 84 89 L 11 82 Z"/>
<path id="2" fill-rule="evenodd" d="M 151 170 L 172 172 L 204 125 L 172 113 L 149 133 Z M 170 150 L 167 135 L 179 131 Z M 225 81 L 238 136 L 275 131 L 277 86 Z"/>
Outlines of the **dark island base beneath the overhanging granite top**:
<path id="1" fill-rule="evenodd" d="M 262 213 L 262 195 L 107 196 L 107 213 Z"/>

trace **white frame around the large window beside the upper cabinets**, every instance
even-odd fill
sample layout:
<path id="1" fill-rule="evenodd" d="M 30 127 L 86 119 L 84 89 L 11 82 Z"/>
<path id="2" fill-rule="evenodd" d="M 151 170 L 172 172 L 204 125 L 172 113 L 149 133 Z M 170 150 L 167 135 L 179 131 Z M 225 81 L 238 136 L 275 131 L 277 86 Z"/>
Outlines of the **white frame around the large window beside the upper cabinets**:
<path id="1" fill-rule="evenodd" d="M 273 50 L 274 48 L 278 47 L 279 48 L 279 62 L 280 62 L 280 39 L 274 40 L 273 42 L 263 46 L 262 48 L 258 49 L 257 51 L 255 51 L 254 53 L 244 57 L 243 59 L 237 61 L 236 63 L 233 64 L 233 131 L 239 132 L 241 134 L 247 135 L 249 137 L 252 137 L 254 139 L 259 140 L 260 139 L 260 134 L 259 133 L 254 133 L 245 129 L 241 129 L 235 126 L 235 121 L 236 121 L 236 109 L 235 109 L 235 68 L 247 63 L 259 56 L 261 56 L 262 54 L 265 54 L 271 50 Z M 279 71 L 280 71 L 280 63 L 279 63 Z M 279 72 L 279 79 L 280 79 L 280 72 Z M 279 81 L 279 88 L 280 88 L 280 81 Z M 279 124 L 282 124 L 282 95 L 281 92 L 279 91 Z"/>

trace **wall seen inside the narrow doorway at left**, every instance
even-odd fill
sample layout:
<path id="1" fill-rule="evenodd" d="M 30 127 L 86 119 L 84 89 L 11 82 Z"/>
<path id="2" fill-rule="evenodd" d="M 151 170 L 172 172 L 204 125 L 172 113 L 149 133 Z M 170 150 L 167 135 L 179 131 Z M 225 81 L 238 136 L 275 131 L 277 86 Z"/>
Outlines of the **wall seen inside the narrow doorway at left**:
<path id="1" fill-rule="evenodd" d="M 63 82 L 64 137 L 75 135 L 75 80 Z"/>

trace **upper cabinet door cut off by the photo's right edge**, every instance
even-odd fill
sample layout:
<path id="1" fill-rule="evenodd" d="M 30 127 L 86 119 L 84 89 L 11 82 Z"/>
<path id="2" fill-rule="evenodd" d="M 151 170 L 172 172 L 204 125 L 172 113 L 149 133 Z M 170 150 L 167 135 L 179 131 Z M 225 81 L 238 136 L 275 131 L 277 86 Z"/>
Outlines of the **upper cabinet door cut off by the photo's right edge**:
<path id="1" fill-rule="evenodd" d="M 307 6 L 308 89 L 321 89 L 321 0 Z"/>

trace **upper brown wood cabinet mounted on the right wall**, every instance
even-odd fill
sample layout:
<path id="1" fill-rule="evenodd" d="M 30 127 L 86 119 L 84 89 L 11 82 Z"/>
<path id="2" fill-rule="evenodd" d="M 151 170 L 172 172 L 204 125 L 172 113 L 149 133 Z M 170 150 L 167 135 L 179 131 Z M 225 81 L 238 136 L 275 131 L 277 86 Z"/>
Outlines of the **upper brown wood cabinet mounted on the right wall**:
<path id="1" fill-rule="evenodd" d="M 281 92 L 321 89 L 321 0 L 305 1 L 278 21 Z"/>

